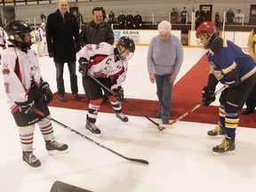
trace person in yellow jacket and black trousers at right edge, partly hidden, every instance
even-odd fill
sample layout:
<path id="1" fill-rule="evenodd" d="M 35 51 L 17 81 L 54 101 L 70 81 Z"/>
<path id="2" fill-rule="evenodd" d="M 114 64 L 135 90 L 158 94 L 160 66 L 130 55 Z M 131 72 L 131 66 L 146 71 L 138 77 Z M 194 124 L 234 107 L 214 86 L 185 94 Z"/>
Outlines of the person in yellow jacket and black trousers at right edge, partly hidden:
<path id="1" fill-rule="evenodd" d="M 256 66 L 256 28 L 252 28 L 252 32 L 248 37 L 247 52 L 252 56 L 254 65 Z M 254 113 L 254 108 L 256 107 L 256 84 L 254 85 L 250 97 L 246 100 L 245 105 L 246 109 L 242 111 L 243 115 Z"/>

